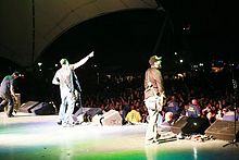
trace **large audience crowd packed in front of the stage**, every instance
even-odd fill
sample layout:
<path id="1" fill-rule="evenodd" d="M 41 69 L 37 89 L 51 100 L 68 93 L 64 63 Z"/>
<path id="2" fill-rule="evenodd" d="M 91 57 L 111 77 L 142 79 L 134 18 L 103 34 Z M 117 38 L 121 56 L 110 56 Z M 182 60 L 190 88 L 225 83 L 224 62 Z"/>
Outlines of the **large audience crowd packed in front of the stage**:
<path id="1" fill-rule="evenodd" d="M 214 74 L 214 76 L 218 75 Z M 86 108 L 99 107 L 105 112 L 116 110 L 123 118 L 123 125 L 149 123 L 149 110 L 144 103 L 143 78 L 144 75 L 135 76 L 135 78 L 122 77 L 121 79 L 124 81 L 111 79 L 115 83 L 114 87 L 108 86 L 100 94 L 85 95 L 83 106 Z M 168 78 L 167 76 L 164 79 L 166 102 L 159 114 L 159 124 L 173 125 L 181 116 L 203 118 L 210 124 L 216 120 L 239 121 L 237 93 L 234 88 L 228 87 L 231 85 L 230 82 L 226 82 L 224 88 L 217 87 L 225 82 L 214 83 L 211 78 L 207 78 L 210 79 L 207 82 L 206 74 L 203 78 L 201 74 L 193 74 L 184 78 L 173 78 L 173 76 Z M 135 85 L 136 82 L 138 85 Z"/>

